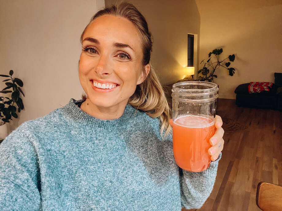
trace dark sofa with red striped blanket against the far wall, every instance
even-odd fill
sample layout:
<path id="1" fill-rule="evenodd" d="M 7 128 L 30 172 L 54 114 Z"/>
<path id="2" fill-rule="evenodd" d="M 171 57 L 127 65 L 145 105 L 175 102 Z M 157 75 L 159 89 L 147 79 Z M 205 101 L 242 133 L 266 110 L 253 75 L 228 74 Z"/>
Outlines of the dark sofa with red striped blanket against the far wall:
<path id="1" fill-rule="evenodd" d="M 269 91 L 249 93 L 250 83 L 240 84 L 235 89 L 236 105 L 243 107 L 255 107 L 265 109 L 277 109 L 282 111 L 282 73 L 274 73 L 275 83 Z"/>

